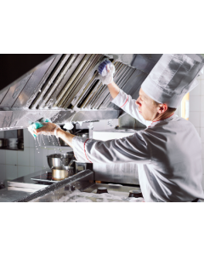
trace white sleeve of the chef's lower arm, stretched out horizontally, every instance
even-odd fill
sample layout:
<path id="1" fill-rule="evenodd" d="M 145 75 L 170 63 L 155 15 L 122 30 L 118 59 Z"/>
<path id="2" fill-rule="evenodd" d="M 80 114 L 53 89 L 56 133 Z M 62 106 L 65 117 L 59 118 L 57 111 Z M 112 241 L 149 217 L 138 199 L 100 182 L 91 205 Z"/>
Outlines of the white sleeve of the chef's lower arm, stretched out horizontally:
<path id="1" fill-rule="evenodd" d="M 100 142 L 93 139 L 73 138 L 74 154 L 79 162 L 113 164 L 136 162 L 148 164 L 151 150 L 142 131 L 131 137 Z"/>

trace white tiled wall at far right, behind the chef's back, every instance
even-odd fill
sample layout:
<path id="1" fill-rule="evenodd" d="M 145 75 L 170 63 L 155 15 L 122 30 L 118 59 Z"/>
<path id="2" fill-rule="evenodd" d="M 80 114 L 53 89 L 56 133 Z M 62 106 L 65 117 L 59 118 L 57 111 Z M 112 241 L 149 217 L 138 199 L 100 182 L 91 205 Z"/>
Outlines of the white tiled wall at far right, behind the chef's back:
<path id="1" fill-rule="evenodd" d="M 204 170 L 204 74 L 198 78 L 198 86 L 190 92 L 190 122 L 195 125 L 202 141 L 202 166 Z M 202 179 L 204 189 L 204 173 Z"/>

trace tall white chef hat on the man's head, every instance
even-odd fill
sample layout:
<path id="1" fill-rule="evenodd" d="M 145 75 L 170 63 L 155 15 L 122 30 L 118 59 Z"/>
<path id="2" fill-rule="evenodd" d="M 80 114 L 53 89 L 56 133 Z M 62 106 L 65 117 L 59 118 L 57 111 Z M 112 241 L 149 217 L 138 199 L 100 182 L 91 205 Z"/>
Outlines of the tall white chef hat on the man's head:
<path id="1" fill-rule="evenodd" d="M 184 96 L 196 86 L 204 66 L 200 54 L 164 54 L 142 84 L 142 90 L 154 101 L 178 108 Z"/>

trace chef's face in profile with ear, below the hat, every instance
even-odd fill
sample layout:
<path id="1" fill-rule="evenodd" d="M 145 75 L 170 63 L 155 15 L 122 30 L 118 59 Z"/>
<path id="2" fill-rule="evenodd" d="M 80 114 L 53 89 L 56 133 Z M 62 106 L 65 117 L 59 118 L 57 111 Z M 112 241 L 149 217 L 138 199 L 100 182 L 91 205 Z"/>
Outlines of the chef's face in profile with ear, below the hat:
<path id="1" fill-rule="evenodd" d="M 139 91 L 139 98 L 136 102 L 139 107 L 139 113 L 144 117 L 146 121 L 153 121 L 162 113 L 166 112 L 166 104 L 156 104 L 154 100 L 147 96 L 141 89 Z M 165 109 L 163 109 L 163 107 Z"/>

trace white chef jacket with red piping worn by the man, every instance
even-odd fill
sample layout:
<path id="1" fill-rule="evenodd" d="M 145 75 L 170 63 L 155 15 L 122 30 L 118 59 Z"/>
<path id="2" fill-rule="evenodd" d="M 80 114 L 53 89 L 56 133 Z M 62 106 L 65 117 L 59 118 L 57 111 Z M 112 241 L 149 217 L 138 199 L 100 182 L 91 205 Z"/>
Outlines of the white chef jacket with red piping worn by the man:
<path id="1" fill-rule="evenodd" d="M 100 142 L 74 137 L 77 160 L 101 164 L 136 162 L 146 202 L 204 200 L 201 138 L 175 113 L 158 122 L 144 120 L 135 100 L 122 90 L 112 101 L 147 126 L 133 136 Z"/>

